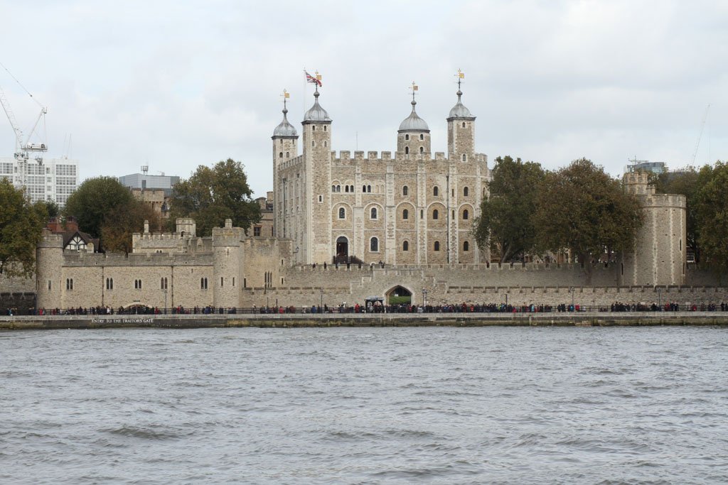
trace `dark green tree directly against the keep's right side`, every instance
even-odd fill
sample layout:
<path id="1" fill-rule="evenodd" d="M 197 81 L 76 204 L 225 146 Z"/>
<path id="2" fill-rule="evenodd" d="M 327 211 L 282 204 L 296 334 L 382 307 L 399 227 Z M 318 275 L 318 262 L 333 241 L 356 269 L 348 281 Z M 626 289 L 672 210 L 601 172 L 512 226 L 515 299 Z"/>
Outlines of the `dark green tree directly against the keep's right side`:
<path id="1" fill-rule="evenodd" d="M 502 262 L 521 260 L 534 248 L 536 194 L 545 172 L 533 161 L 498 157 L 488 183 L 490 195 L 480 204 L 475 220 L 475 240 L 480 247 L 491 245 Z"/>

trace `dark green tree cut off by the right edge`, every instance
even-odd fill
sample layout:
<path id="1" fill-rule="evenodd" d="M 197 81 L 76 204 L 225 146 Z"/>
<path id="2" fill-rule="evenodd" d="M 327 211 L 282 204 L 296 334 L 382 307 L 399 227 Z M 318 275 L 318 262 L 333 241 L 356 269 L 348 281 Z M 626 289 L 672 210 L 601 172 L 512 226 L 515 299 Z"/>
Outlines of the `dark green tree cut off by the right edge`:
<path id="1" fill-rule="evenodd" d="M 697 243 L 703 262 L 719 273 L 728 270 L 728 164 L 703 167 L 695 196 Z"/>

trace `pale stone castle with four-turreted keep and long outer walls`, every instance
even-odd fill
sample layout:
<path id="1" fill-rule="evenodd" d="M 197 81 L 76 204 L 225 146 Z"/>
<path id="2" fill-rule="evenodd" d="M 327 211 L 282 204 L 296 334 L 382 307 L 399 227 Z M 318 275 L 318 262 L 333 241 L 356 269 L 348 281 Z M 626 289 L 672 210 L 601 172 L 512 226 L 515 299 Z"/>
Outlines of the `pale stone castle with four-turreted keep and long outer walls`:
<path id="1" fill-rule="evenodd" d="M 655 194 L 639 172 L 624 180 L 646 216 L 635 248 L 596 268 L 588 284 L 579 264 L 491 264 L 472 237 L 488 196 L 487 157 L 475 152 L 475 116 L 456 95 L 447 156 L 431 153 L 413 99 L 395 153 L 337 157 L 333 121 L 314 92 L 300 154 L 285 108 L 274 129 L 269 227 L 246 234 L 228 220 L 198 237 L 194 220 L 179 219 L 175 233 L 146 226 L 130 254 L 68 251 L 46 233 L 37 249 L 37 306 L 332 306 L 392 294 L 432 304 L 609 305 L 657 301 L 656 289 L 681 303 L 714 301 L 724 291 L 692 287 L 701 281 L 689 281 L 685 264 L 685 197 Z"/>

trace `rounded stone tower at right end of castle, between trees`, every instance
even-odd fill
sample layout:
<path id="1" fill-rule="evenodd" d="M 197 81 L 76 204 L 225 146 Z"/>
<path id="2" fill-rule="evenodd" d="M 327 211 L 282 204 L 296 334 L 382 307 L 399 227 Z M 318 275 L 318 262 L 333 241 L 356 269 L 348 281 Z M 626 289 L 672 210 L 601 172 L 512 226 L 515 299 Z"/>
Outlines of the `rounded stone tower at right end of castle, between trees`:
<path id="1" fill-rule="evenodd" d="M 622 254 L 621 285 L 680 285 L 685 283 L 686 199 L 656 194 L 646 172 L 622 179 L 625 191 L 637 197 L 644 214 L 632 251 Z"/>

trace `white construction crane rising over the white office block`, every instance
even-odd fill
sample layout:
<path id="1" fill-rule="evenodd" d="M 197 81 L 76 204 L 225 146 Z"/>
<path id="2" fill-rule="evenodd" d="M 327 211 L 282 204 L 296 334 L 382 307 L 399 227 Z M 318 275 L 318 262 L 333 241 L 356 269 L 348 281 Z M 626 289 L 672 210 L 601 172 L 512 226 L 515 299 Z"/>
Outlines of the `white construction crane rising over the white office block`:
<path id="1" fill-rule="evenodd" d="M 0 64 L 7 73 L 10 74 L 12 79 L 15 79 L 15 76 L 8 71 L 8 69 Z M 2 105 L 3 110 L 5 111 L 5 115 L 7 116 L 8 121 L 10 122 L 10 126 L 12 127 L 12 131 L 15 132 L 15 159 L 17 160 L 17 175 L 18 175 L 18 182 L 20 185 L 27 185 L 28 183 L 28 160 L 31 159 L 31 153 L 33 153 L 33 159 L 38 162 L 38 164 L 43 163 L 43 156 L 42 153 L 45 153 L 48 151 L 48 145 L 45 141 L 45 115 L 48 112 L 47 108 L 45 108 L 44 105 L 41 105 L 41 103 L 36 100 L 33 95 L 31 95 L 30 92 L 28 92 L 28 89 L 25 89 L 23 87 L 23 84 L 20 84 L 20 81 L 15 79 L 15 82 L 23 88 L 23 91 L 28 93 L 28 96 L 30 96 L 33 101 L 36 102 L 41 108 L 40 113 L 38 114 L 35 123 L 33 124 L 33 127 L 28 131 L 28 134 L 25 135 L 23 133 L 23 130 L 20 129 L 20 125 L 17 124 L 17 119 L 15 119 L 15 113 L 13 113 L 12 109 L 10 108 L 10 103 L 7 99 L 7 96 L 5 95 L 5 92 L 3 91 L 2 87 L 0 87 L 0 104 Z M 42 132 L 41 132 L 42 127 Z M 35 142 L 35 143 L 34 143 Z"/>

